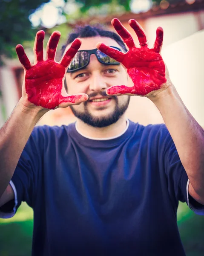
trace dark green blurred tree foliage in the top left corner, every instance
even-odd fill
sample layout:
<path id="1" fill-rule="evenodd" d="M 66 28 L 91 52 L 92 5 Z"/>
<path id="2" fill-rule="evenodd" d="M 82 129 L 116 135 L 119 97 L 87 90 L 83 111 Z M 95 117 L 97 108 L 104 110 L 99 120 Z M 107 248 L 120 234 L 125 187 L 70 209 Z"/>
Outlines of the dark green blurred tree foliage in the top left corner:
<path id="1" fill-rule="evenodd" d="M 0 0 L 0 62 L 2 55 L 14 57 L 16 44 L 34 37 L 29 15 L 49 0 Z"/>

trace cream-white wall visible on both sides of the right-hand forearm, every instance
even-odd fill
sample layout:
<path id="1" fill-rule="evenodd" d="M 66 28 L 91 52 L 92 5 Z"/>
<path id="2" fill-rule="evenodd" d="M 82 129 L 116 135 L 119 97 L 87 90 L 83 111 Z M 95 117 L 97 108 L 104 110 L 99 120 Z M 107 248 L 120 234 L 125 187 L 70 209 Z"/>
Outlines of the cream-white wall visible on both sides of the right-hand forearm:
<path id="1" fill-rule="evenodd" d="M 161 55 L 181 99 L 204 127 L 204 30 L 164 47 Z M 144 97 L 131 97 L 127 113 L 143 125 L 163 122 L 155 105 Z"/>

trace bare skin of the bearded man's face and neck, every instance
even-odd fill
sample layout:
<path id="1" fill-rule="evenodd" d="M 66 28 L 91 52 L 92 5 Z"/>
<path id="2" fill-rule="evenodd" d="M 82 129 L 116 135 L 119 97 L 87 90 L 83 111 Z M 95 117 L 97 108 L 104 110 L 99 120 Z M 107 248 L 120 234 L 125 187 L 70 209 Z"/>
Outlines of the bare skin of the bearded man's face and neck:
<path id="1" fill-rule="evenodd" d="M 93 37 L 81 38 L 82 44 L 80 50 L 95 49 L 96 44 L 101 40 L 107 45 L 121 48 L 112 38 Z M 70 45 L 67 46 L 67 48 L 69 47 Z M 90 56 L 89 65 L 87 65 L 85 69 L 66 74 L 68 93 L 86 93 L 89 96 L 89 99 L 92 99 L 92 97 L 102 97 L 100 94 L 101 92 L 105 92 L 109 87 L 118 85 L 121 82 L 126 84 L 126 86 L 129 84 L 126 68 L 122 65 L 103 65 L 98 61 L 94 54 Z M 124 105 L 128 100 L 128 96 L 116 97 L 118 98 L 119 106 Z M 84 104 L 85 103 L 81 103 L 80 105 L 72 106 L 72 108 L 83 113 L 85 111 Z M 86 109 L 92 116 L 104 117 L 113 113 L 115 104 L 116 101 L 113 98 L 104 106 L 93 105 L 88 100 Z M 103 128 L 92 127 L 82 122 L 80 119 L 77 119 L 77 125 L 80 132 L 85 136 L 95 138 L 113 137 L 124 131 L 126 127 L 126 117 L 123 115 L 118 122 Z"/>

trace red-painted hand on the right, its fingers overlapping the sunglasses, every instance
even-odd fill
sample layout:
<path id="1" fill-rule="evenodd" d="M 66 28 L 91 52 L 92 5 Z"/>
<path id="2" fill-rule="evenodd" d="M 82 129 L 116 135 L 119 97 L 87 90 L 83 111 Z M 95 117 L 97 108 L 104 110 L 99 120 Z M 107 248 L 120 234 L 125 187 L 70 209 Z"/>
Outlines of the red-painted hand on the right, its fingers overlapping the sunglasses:
<path id="1" fill-rule="evenodd" d="M 141 48 L 135 46 L 132 35 L 118 19 L 113 19 L 112 25 L 124 40 L 127 47 L 129 47 L 129 51 L 126 53 L 119 52 L 101 43 L 98 43 L 97 47 L 101 52 L 106 53 L 126 67 L 127 73 L 132 79 L 134 86 L 112 86 L 106 90 L 106 93 L 109 95 L 128 94 L 147 96 L 147 94 L 152 91 L 161 89 L 163 84 L 167 81 L 165 76 L 165 64 L 159 54 L 163 41 L 163 29 L 161 27 L 157 29 L 154 47 L 149 49 L 147 47 L 148 42 L 146 34 L 135 20 L 129 20 L 129 25 L 135 30 Z"/>

